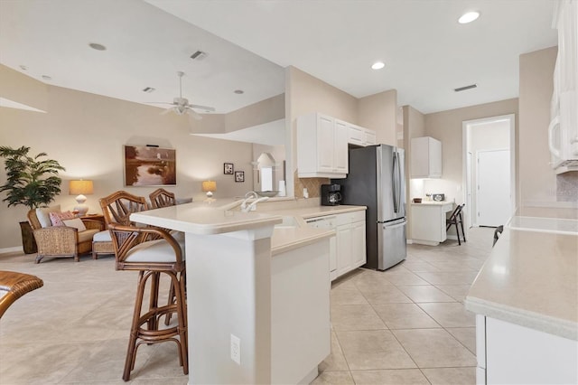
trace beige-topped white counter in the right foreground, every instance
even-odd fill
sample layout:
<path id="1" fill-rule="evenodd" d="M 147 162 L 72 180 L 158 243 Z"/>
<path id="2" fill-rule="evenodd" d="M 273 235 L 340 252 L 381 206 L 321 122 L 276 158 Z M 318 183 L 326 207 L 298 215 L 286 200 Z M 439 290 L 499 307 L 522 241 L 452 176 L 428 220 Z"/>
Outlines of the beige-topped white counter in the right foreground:
<path id="1" fill-rule="evenodd" d="M 578 211 L 527 207 L 505 227 L 465 300 L 478 384 L 578 382 Z"/>

